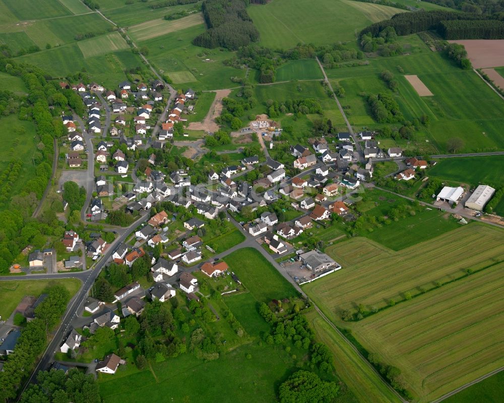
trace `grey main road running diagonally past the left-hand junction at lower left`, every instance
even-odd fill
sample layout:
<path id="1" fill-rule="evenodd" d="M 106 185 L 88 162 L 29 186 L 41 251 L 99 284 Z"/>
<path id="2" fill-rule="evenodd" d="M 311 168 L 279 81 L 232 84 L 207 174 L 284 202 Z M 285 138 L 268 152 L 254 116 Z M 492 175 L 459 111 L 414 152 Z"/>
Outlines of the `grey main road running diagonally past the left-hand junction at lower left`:
<path id="1" fill-rule="evenodd" d="M 74 298 L 72 298 L 72 300 L 70 301 L 70 303 L 67 307 L 67 310 L 63 316 L 63 319 L 61 320 L 61 324 L 59 325 L 58 329 L 55 331 L 52 340 L 49 342 L 49 345 L 47 346 L 47 349 L 45 350 L 44 355 L 42 356 L 42 359 L 38 362 L 37 366 L 35 367 L 35 370 L 33 371 L 26 386 L 30 382 L 32 382 L 35 374 L 39 370 L 44 370 L 49 367 L 49 364 L 51 363 L 52 356 L 53 356 L 54 352 L 57 351 L 60 344 L 62 343 L 61 340 L 67 334 L 67 332 L 70 330 L 71 321 L 76 317 L 79 308 L 86 302 L 89 290 L 91 289 L 95 279 L 98 277 L 102 267 L 108 262 L 108 260 L 110 259 L 110 257 L 114 253 L 117 246 L 119 246 L 119 244 L 121 242 L 123 242 L 130 235 L 130 233 L 133 231 L 133 229 L 135 229 L 142 222 L 147 221 L 148 218 L 149 218 L 149 214 L 147 212 L 144 212 L 144 214 L 138 220 L 136 220 L 129 227 L 124 228 L 124 230 L 122 231 L 122 234 L 120 234 L 119 237 L 116 238 L 115 241 L 110 244 L 110 247 L 107 249 L 107 251 L 102 256 L 100 261 L 96 264 L 96 266 L 93 270 L 86 270 L 84 272 L 78 273 L 78 274 L 81 274 L 81 276 L 83 276 L 83 277 L 81 277 L 81 276 L 78 277 L 83 282 L 81 289 L 74 296 Z M 68 274 L 70 274 L 70 273 L 68 273 Z M 57 278 L 62 278 L 62 276 L 60 276 L 60 275 L 58 276 L 56 274 L 52 274 L 52 275 L 46 274 L 46 275 L 42 275 L 38 278 L 44 278 L 44 279 L 54 278 L 52 276 L 56 276 Z M 28 276 L 23 276 L 23 278 L 21 278 L 21 276 L 16 277 L 16 280 L 27 279 L 25 277 L 28 277 Z M 3 279 L 3 278 L 0 278 L 0 279 Z M 10 277 L 9 279 L 12 280 L 13 278 Z M 25 386 L 25 389 L 26 389 L 26 386 Z M 23 392 L 24 392 L 24 389 L 23 389 Z"/>

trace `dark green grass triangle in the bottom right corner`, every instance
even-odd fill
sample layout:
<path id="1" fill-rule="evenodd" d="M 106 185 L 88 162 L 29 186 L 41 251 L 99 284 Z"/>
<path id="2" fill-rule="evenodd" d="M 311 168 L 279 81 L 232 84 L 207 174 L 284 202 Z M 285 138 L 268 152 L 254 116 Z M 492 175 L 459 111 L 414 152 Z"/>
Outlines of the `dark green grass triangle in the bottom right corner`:
<path id="1" fill-rule="evenodd" d="M 504 371 L 500 371 L 443 400 L 444 403 L 495 403 L 504 394 Z"/>

